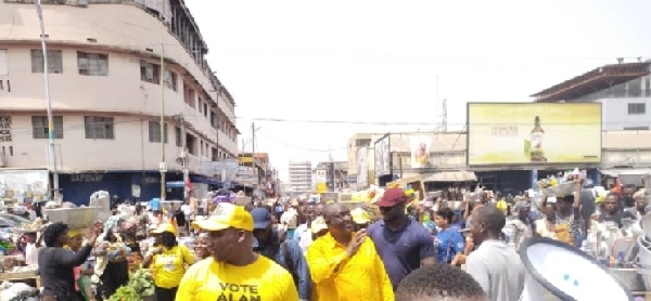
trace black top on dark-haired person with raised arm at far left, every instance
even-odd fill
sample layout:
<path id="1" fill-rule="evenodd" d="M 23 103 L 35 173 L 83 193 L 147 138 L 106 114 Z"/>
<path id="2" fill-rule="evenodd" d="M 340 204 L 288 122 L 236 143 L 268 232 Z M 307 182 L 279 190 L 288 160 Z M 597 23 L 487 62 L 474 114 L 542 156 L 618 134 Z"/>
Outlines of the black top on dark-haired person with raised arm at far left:
<path id="1" fill-rule="evenodd" d="M 43 295 L 72 298 L 75 292 L 73 267 L 85 263 L 91 250 L 91 246 L 82 247 L 77 253 L 60 247 L 40 249 L 38 252 L 38 273 L 43 287 Z"/>

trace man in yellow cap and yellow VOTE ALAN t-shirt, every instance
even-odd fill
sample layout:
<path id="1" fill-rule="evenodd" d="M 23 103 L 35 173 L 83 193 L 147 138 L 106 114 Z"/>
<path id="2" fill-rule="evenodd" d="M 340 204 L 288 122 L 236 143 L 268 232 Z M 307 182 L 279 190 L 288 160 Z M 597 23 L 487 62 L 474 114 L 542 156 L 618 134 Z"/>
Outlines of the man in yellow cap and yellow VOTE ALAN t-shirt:
<path id="1" fill-rule="evenodd" d="M 221 202 L 213 214 L 192 224 L 207 232 L 213 253 L 188 270 L 176 300 L 297 301 L 292 275 L 253 251 L 253 217 L 244 207 Z"/>

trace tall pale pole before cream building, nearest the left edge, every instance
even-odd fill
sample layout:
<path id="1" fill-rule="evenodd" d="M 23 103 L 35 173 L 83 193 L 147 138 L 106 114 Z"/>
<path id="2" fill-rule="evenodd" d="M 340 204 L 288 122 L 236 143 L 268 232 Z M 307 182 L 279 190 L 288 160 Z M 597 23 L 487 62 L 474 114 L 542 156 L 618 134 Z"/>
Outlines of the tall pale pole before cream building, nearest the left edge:
<path id="1" fill-rule="evenodd" d="M 50 96 L 50 66 L 48 60 L 48 43 L 46 42 L 46 25 L 43 22 L 43 11 L 41 6 L 41 0 L 35 2 L 36 14 L 38 15 L 38 22 L 40 25 L 40 40 L 41 50 L 43 53 L 43 81 L 46 86 L 46 101 L 48 103 L 48 148 L 50 155 L 50 172 L 52 173 L 52 188 L 54 197 L 60 197 L 59 191 L 59 169 L 56 167 L 56 145 L 54 144 L 54 116 L 52 114 L 52 99 Z"/>

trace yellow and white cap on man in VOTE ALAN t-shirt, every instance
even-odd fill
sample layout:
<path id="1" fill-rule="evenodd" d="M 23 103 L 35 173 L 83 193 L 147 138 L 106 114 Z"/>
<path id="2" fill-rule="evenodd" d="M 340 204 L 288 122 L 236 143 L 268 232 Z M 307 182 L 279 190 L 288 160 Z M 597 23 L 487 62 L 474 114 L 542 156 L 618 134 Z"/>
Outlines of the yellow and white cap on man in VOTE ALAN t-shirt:
<path id="1" fill-rule="evenodd" d="M 253 232 L 253 217 L 242 206 L 220 202 L 210 217 L 192 223 L 192 227 L 204 231 L 221 231 L 233 227 Z"/>

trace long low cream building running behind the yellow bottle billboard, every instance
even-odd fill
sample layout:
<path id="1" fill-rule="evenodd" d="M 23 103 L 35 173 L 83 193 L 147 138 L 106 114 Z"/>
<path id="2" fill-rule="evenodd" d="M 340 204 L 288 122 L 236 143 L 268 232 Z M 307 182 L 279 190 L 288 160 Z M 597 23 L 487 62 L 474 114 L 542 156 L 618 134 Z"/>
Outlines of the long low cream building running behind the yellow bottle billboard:
<path id="1" fill-rule="evenodd" d="M 374 135 L 378 139 L 381 135 Z M 465 161 L 468 153 L 467 133 L 430 133 L 430 166 L 412 167 L 410 153 L 411 136 L 418 135 L 422 139 L 423 133 L 392 133 L 391 139 L 391 170 L 393 174 L 401 178 L 422 175 L 429 187 L 437 187 L 437 183 L 448 185 L 451 182 L 462 182 L 475 178 L 483 186 L 489 189 L 531 187 L 534 176 L 544 176 L 549 172 L 567 170 L 576 165 L 541 166 L 533 171 L 527 166 L 489 166 L 469 167 Z M 602 162 L 598 165 L 583 166 L 591 171 L 592 178 L 599 179 L 601 174 L 612 174 L 610 170 L 622 168 L 638 168 L 640 172 L 647 173 L 651 168 L 651 130 L 622 130 L 603 131 L 601 134 Z M 349 160 L 357 160 L 357 154 Z M 370 152 L 372 157 L 372 149 Z M 369 183 L 376 183 L 371 174 L 373 163 L 366 160 L 370 170 Z M 470 171 L 471 173 L 469 173 Z M 474 175 L 473 175 L 474 174 Z M 360 187 L 363 188 L 363 187 Z"/>

